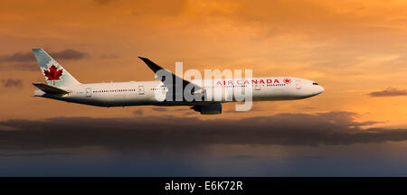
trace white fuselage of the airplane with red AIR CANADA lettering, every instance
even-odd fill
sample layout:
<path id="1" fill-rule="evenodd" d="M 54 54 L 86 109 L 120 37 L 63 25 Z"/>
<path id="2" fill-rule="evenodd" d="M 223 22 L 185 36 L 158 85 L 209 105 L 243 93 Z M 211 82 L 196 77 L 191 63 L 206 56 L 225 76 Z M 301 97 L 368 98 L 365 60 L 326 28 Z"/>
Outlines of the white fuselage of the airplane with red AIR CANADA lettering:
<path id="1" fill-rule="evenodd" d="M 253 101 L 309 98 L 324 91 L 324 88 L 312 80 L 294 77 L 211 80 L 212 85 L 209 86 L 205 86 L 205 83 L 208 83 L 207 80 L 192 80 L 191 82 L 202 86 L 205 90 L 212 90 L 213 96 L 221 91 L 222 99 L 211 98 L 211 101 L 201 102 L 163 101 L 163 98 L 166 97 L 166 93 L 168 92 L 168 88 L 165 88 L 161 81 L 79 84 L 62 87 L 62 89 L 70 92 L 65 95 L 49 94 L 44 93 L 42 90 L 36 90 L 34 96 L 99 107 L 140 105 L 194 106 L 213 102 L 227 102 L 228 99 L 236 101 L 232 91 L 244 91 L 244 88 L 251 88 Z"/>

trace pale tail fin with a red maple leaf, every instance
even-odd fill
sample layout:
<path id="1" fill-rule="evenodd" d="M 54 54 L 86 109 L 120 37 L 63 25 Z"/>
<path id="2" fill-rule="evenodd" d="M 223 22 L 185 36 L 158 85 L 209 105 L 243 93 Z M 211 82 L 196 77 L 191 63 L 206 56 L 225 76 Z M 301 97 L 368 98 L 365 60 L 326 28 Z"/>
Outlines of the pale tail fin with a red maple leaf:
<path id="1" fill-rule="evenodd" d="M 71 74 L 62 68 L 62 66 L 43 49 L 33 49 L 33 54 L 37 59 L 38 65 L 43 72 L 47 84 L 54 87 L 78 85 L 80 82 L 73 78 Z"/>

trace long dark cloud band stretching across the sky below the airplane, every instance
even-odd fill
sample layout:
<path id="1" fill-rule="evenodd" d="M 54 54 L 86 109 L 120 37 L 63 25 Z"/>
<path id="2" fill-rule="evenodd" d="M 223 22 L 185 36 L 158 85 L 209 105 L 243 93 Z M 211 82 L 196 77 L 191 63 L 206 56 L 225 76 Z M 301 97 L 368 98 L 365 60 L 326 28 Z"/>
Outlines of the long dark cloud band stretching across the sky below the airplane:
<path id="1" fill-rule="evenodd" d="M 0 126 L 17 130 L 0 131 L 0 149 L 193 148 L 208 144 L 317 146 L 407 140 L 407 129 L 361 129 L 361 126 L 378 122 L 355 122 L 355 116 L 354 113 L 329 112 L 279 114 L 242 120 L 173 116 L 11 119 L 0 122 Z"/>

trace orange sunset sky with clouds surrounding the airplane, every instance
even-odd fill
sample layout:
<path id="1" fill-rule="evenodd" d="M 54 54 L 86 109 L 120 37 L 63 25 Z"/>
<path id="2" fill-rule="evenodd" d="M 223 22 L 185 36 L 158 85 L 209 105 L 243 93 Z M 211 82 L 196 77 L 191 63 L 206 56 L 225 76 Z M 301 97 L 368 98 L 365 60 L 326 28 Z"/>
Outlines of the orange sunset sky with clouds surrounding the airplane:
<path id="1" fill-rule="evenodd" d="M 38 131 L 33 133 L 30 128 L 41 129 L 46 125 L 79 124 L 79 127 L 91 129 L 90 135 L 80 136 L 87 142 L 98 139 L 91 135 L 98 135 L 100 131 L 100 139 L 113 134 L 118 139 L 123 138 L 123 142 L 131 143 L 131 140 L 126 140 L 128 136 L 126 132 L 130 133 L 131 129 L 123 127 L 122 131 L 115 135 L 116 133 L 110 133 L 109 129 L 99 129 L 99 125 L 88 123 L 106 123 L 106 126 L 110 126 L 118 121 L 124 121 L 124 124 L 137 126 L 143 125 L 143 121 L 154 124 L 152 120 L 154 117 L 158 121 L 155 126 L 169 125 L 179 131 L 181 138 L 177 139 L 180 139 L 178 140 L 180 143 L 183 143 L 184 139 L 194 140 L 204 145 L 196 146 L 200 148 L 199 151 L 204 150 L 208 156 L 213 157 L 206 159 L 209 163 L 203 163 L 205 161 L 202 159 L 205 158 L 195 156 L 196 154 L 190 154 L 193 156 L 189 157 L 183 156 L 185 159 L 181 158 L 182 160 L 178 159 L 177 161 L 191 160 L 200 164 L 201 171 L 191 173 L 192 175 L 203 174 L 203 172 L 216 175 L 213 169 L 222 170 L 227 167 L 225 162 L 232 160 L 228 159 L 220 163 L 208 159 L 223 156 L 224 153 L 234 153 L 233 158 L 251 161 L 251 164 L 260 164 L 260 167 L 266 167 L 261 164 L 268 162 L 270 156 L 261 160 L 252 158 L 248 160 L 246 159 L 249 156 L 248 153 L 262 157 L 265 153 L 273 153 L 273 156 L 278 156 L 276 158 L 284 156 L 287 159 L 291 158 L 290 155 L 301 156 L 301 158 L 308 156 L 313 161 L 318 161 L 319 156 L 322 155 L 326 159 L 324 163 L 326 166 L 322 166 L 321 169 L 325 167 L 330 170 L 330 163 L 327 161 L 337 163 L 336 160 L 341 159 L 340 156 L 345 155 L 345 151 L 349 150 L 353 151 L 347 154 L 352 156 L 348 156 L 351 159 L 360 153 L 372 153 L 366 148 L 374 147 L 379 153 L 385 151 L 383 153 L 388 157 L 385 163 L 387 165 L 393 164 L 391 159 L 396 158 L 394 151 L 406 152 L 406 1 L 2 0 L 0 1 L 0 24 L 0 128 L 2 129 L 0 134 L 3 135 L 0 138 L 3 141 L 0 141 L 2 143 L 0 146 L 3 148 L 0 158 L 5 158 L 4 162 L 8 162 L 8 165 L 20 162 L 21 159 L 18 158 L 30 158 L 32 153 L 40 153 L 40 156 L 45 152 L 52 153 L 51 156 L 75 153 L 77 159 L 80 159 L 78 161 L 82 162 L 82 157 L 88 156 L 89 153 L 98 156 L 97 159 L 100 160 L 114 159 L 115 157 L 111 155 L 119 155 L 116 152 L 114 154 L 107 152 L 111 150 L 121 152 L 142 150 L 138 148 L 140 146 L 138 144 L 120 145 L 114 141 L 52 144 L 54 141 L 46 137 L 48 135 L 52 137 L 53 133 L 48 134 L 46 130 L 37 135 L 38 139 L 31 140 L 31 144 L 27 144 L 22 140 L 29 140 L 29 135 L 35 136 L 38 133 Z M 312 79 L 322 85 L 325 92 L 317 97 L 298 101 L 254 102 L 253 109 L 243 113 L 234 112 L 234 103 L 228 103 L 223 105 L 224 112 L 218 116 L 201 116 L 188 107 L 83 106 L 33 98 L 33 90 L 36 88 L 31 83 L 43 82 L 44 79 L 33 57 L 32 48 L 43 48 L 49 52 L 81 83 L 153 80 L 153 72 L 137 59 L 137 56 L 143 56 L 168 70 L 175 70 L 175 61 L 183 61 L 185 70 L 251 69 L 253 77 L 293 76 Z M 190 122 L 185 125 L 175 124 L 176 121 L 180 124 L 188 121 L 185 119 Z M 296 126 L 289 121 L 291 123 L 296 121 L 302 125 Z M 231 128 L 233 125 L 243 123 L 259 125 L 259 129 L 264 128 L 260 130 L 264 134 L 256 135 L 256 131 L 241 130 L 243 133 L 240 132 L 241 135 L 236 136 L 233 136 L 236 132 L 222 131 L 207 133 L 208 136 L 203 135 L 202 139 L 192 135 L 183 137 L 191 133 L 190 130 L 186 130 L 190 128 L 185 126 L 200 125 L 202 130 L 197 131 L 204 131 L 202 126 L 213 128 L 221 124 L 224 128 Z M 271 125 L 277 128 L 269 131 Z M 72 128 L 76 127 L 72 126 Z M 251 128 L 250 125 L 247 127 Z M 301 127 L 304 129 L 298 130 Z M 112 131 L 113 128 L 111 127 Z M 18 129 L 21 132 L 18 133 Z M 152 132 L 159 131 L 156 132 L 157 134 L 162 133 L 160 127 L 151 127 L 151 129 Z M 310 133 L 306 134 L 303 130 L 309 130 Z M 162 131 L 166 130 L 162 129 Z M 63 129 L 62 135 L 68 135 L 69 141 L 79 139 L 70 137 L 72 135 L 69 132 L 69 129 Z M 319 134 L 321 132 L 323 132 L 322 135 Z M 80 132 L 77 133 L 80 134 Z M 243 139 L 246 133 L 247 139 Z M 331 137 L 331 133 L 337 136 Z M 62 135 L 57 137 L 61 138 Z M 164 135 L 171 137 L 173 133 L 166 132 Z M 164 135 L 160 137 L 165 139 Z M 228 137 L 231 135 L 232 137 Z M 143 135 L 146 136 L 144 139 L 135 132 L 131 132 L 129 136 L 135 138 L 137 142 L 142 140 L 158 142 L 153 138 L 154 134 Z M 262 139 L 267 136 L 270 136 L 270 143 Z M 71 142 L 67 141 L 67 143 Z M 185 141 L 185 145 L 194 144 Z M 343 148 L 344 145 L 349 144 L 357 146 Z M 151 143 L 141 144 L 140 147 L 147 148 L 150 153 L 160 151 L 159 153 L 165 153 L 163 154 L 165 156 L 179 157 L 180 153 L 184 153 L 184 151 L 180 152 L 180 145 L 172 142 L 163 145 L 163 148 L 171 148 L 172 152 Z M 299 148 L 293 145 L 299 145 Z M 319 149 L 312 149 L 316 145 L 319 145 Z M 16 148 L 15 151 L 6 150 L 10 147 Z M 205 149 L 202 149 L 203 147 Z M 194 148 L 192 147 L 191 150 L 195 150 Z M 17 159 L 8 157 L 15 153 L 19 156 Z M 25 155 L 27 153 L 28 157 Z M 326 153 L 338 154 L 329 158 Z M 38 157 L 38 155 L 34 156 Z M 380 159 L 381 156 L 378 154 L 376 157 Z M 44 162 L 49 160 L 49 157 L 41 158 Z M 127 161 L 121 157 L 118 158 L 123 162 Z M 308 175 L 314 172 L 301 168 L 308 163 L 309 158 L 305 158 L 306 163 L 296 165 L 302 170 L 298 171 L 299 174 L 302 172 Z M 90 159 L 83 161 L 88 160 L 90 161 Z M 349 164 L 356 162 L 362 167 L 365 159 L 359 160 Z M 407 159 L 402 161 L 406 163 Z M 35 160 L 33 164 L 39 162 Z M 120 161 L 118 164 L 127 164 L 123 162 Z M 146 160 L 144 163 L 148 164 L 149 161 Z M 268 163 L 268 166 L 283 167 L 281 164 L 285 164 L 286 168 L 290 167 L 284 162 Z M 187 165 L 189 168 L 192 166 Z M 211 169 L 212 165 L 215 168 Z M 60 166 L 64 167 L 64 165 Z M 161 165 L 157 164 L 157 166 Z M 25 164 L 21 167 L 28 169 Z M 56 167 L 59 168 L 59 166 Z M 243 170 L 247 168 L 244 163 L 236 167 Z M 394 169 L 398 169 L 397 166 L 395 167 Z M 407 170 L 406 167 L 399 168 Z M 176 172 L 176 170 L 180 171 Z M 0 168 L 0 173 L 6 171 L 6 168 Z M 243 175 L 256 175 L 262 172 L 251 169 L 245 169 L 245 171 L 247 173 L 242 173 Z M 188 171 L 178 167 L 172 173 L 181 174 L 182 172 Z M 295 171 L 284 172 L 276 169 L 270 174 L 287 175 L 288 172 Z M 403 171 L 402 174 L 406 172 Z M 325 174 L 323 171 L 319 173 Z M 340 175 L 341 172 L 336 173 Z M 384 173 L 389 172 L 383 171 Z M 140 174 L 143 175 L 143 173 Z M 228 175 L 228 172 L 224 174 Z M 171 172 L 168 175 L 172 175 Z"/>

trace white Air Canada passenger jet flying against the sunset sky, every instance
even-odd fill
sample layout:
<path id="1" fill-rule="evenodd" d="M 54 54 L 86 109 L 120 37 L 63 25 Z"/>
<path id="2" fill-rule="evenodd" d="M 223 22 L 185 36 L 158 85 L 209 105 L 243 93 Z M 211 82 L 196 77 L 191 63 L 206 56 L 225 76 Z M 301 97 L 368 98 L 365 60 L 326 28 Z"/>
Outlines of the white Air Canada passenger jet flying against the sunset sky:
<path id="1" fill-rule="evenodd" d="M 205 86 L 204 80 L 187 80 L 175 76 L 171 71 L 165 70 L 147 58 L 138 57 L 147 66 L 157 72 L 165 71 L 173 77 L 173 82 L 166 82 L 166 77 L 156 81 L 129 81 L 110 83 L 82 84 L 73 78 L 68 70 L 62 66 L 43 49 L 33 49 L 33 54 L 40 66 L 46 83 L 33 83 L 39 88 L 34 91 L 34 97 L 52 98 L 66 102 L 98 106 L 98 107 L 128 107 L 128 106 L 188 106 L 202 115 L 222 114 L 222 103 L 236 102 L 232 90 L 251 88 L 252 101 L 295 100 L 317 96 L 324 88 L 317 82 L 296 77 L 265 77 L 252 79 L 218 79 L 212 80 L 211 85 Z M 169 80 L 169 79 L 168 79 Z M 181 82 L 175 82 L 181 80 Z M 205 80 L 207 81 L 207 80 Z M 181 83 L 181 85 L 179 85 Z M 206 90 L 222 89 L 221 98 L 209 98 L 203 101 L 186 101 L 185 98 L 175 98 L 175 88 L 185 88 L 191 85 L 193 95 L 207 96 Z M 216 90 L 215 90 L 216 91 Z M 217 90 L 219 91 L 219 90 Z M 172 93 L 168 96 L 168 94 Z M 158 98 L 157 98 L 158 94 Z M 161 94 L 161 97 L 160 97 Z M 229 96 L 231 97 L 227 97 Z M 232 95 L 231 95 L 232 94 Z M 211 96 L 214 96 L 214 92 Z M 206 97 L 207 98 L 207 97 Z M 228 100 L 229 98 L 229 100 Z M 228 101 L 227 101 L 228 100 Z"/>

